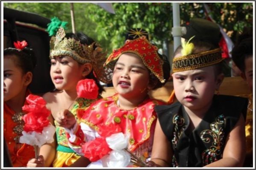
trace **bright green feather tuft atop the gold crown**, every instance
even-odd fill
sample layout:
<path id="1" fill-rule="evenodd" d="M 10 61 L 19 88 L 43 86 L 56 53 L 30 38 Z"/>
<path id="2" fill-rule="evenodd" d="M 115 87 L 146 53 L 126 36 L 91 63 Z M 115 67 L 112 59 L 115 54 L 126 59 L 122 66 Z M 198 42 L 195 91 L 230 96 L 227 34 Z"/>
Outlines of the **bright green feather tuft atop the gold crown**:
<path id="1" fill-rule="evenodd" d="M 67 23 L 68 22 L 59 20 L 57 17 L 53 17 L 51 22 L 47 24 L 48 27 L 46 31 L 49 33 L 49 36 L 55 36 L 60 27 L 66 29 Z"/>

